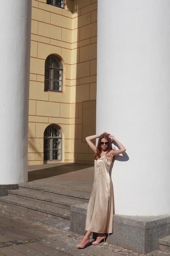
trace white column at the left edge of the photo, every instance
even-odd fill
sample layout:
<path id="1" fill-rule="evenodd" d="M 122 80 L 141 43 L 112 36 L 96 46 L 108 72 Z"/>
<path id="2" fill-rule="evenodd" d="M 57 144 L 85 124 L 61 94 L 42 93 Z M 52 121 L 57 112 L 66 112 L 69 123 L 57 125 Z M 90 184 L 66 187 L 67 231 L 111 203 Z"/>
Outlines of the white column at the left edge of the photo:
<path id="1" fill-rule="evenodd" d="M 0 184 L 27 181 L 31 0 L 0 6 Z"/>

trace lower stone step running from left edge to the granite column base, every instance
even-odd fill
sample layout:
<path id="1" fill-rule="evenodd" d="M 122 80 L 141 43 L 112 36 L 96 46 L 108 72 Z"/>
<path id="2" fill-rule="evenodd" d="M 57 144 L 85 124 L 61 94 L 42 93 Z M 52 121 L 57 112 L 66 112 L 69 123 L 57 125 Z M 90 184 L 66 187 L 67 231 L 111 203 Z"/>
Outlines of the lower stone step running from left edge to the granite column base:
<path id="1" fill-rule="evenodd" d="M 21 207 L 32 209 L 40 213 L 46 213 L 51 216 L 57 216 L 67 220 L 70 219 L 70 211 L 67 209 L 62 209 L 60 207 L 55 207 L 53 205 L 49 206 L 48 204 L 43 204 L 42 202 L 39 203 L 39 202 L 29 201 L 23 198 L 19 198 L 17 195 L 10 194 L 8 196 L 0 197 L 0 201 L 8 204 L 15 204 Z"/>

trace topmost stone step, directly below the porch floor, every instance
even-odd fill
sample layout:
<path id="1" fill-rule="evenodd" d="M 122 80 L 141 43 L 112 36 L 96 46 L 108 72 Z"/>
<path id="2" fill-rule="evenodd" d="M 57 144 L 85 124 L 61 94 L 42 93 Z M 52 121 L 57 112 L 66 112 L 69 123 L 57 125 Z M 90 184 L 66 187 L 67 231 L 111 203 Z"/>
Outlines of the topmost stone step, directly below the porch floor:
<path id="1" fill-rule="evenodd" d="M 91 190 L 86 190 L 83 188 L 77 189 L 76 187 L 63 186 L 60 184 L 57 184 L 57 186 L 51 185 L 51 187 L 49 188 L 49 185 L 45 185 L 45 184 L 42 185 L 42 183 L 39 183 L 39 182 L 25 182 L 25 183 L 19 184 L 19 187 L 51 192 L 55 194 L 66 195 L 66 196 L 71 196 L 73 198 L 79 198 L 79 199 L 85 199 L 85 200 L 89 200 L 91 195 Z"/>

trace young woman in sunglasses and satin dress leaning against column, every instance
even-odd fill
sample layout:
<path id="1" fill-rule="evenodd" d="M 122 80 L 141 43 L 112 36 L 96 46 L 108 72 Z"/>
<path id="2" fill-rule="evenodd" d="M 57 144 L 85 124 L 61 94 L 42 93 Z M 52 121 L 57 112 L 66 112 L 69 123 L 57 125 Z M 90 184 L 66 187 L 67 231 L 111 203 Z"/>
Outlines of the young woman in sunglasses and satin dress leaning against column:
<path id="1" fill-rule="evenodd" d="M 96 147 L 92 140 L 97 138 L 99 138 L 99 141 Z M 102 240 L 105 241 L 106 233 L 113 233 L 113 186 L 109 171 L 113 157 L 126 150 L 108 132 L 88 136 L 86 141 L 95 152 L 95 172 L 87 209 L 86 234 L 81 242 L 76 245 L 78 248 L 84 248 L 88 245 L 92 232 L 97 233 L 97 239 L 92 243 L 93 245 L 98 245 Z M 111 141 L 116 142 L 119 147 L 118 150 L 112 148 Z"/>

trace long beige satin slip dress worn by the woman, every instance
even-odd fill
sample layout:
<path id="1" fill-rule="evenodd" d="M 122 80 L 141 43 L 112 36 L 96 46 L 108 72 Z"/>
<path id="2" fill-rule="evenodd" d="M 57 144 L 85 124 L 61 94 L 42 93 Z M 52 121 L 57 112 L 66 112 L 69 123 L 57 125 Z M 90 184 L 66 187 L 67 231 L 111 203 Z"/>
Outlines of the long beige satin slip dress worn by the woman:
<path id="1" fill-rule="evenodd" d="M 106 155 L 95 160 L 94 181 L 88 203 L 86 230 L 113 233 L 113 185 L 110 178 L 112 162 Z"/>

